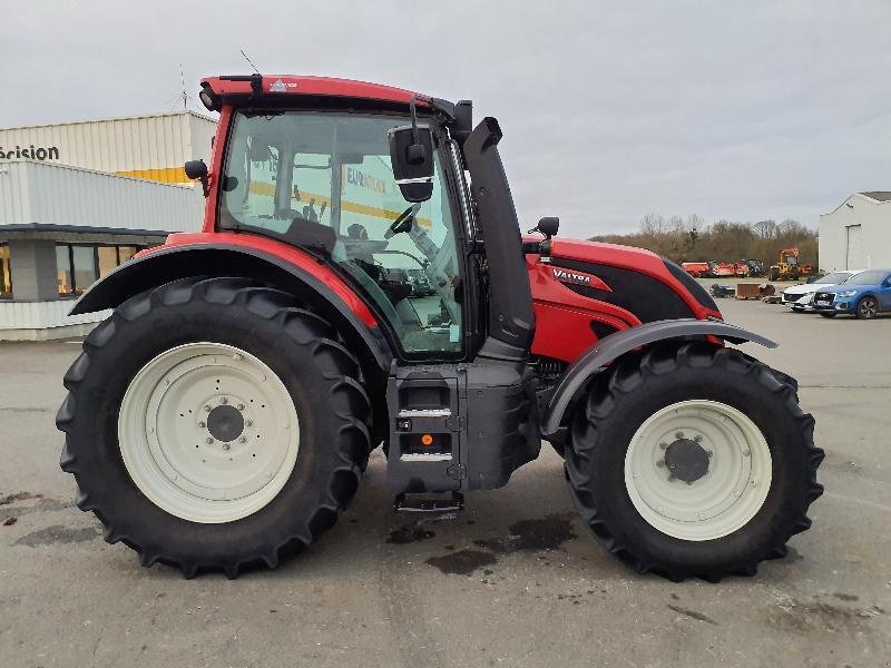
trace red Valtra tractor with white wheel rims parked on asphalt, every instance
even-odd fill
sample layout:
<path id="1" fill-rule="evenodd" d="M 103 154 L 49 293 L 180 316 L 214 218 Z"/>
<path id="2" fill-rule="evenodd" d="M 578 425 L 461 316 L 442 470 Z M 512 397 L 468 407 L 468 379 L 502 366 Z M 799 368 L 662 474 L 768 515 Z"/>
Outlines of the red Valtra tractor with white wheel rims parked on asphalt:
<path id="1" fill-rule="evenodd" d="M 383 445 L 395 508 L 456 510 L 542 439 L 638 572 L 752 574 L 822 488 L 796 383 L 650 252 L 521 237 L 495 118 L 292 76 L 202 81 L 219 112 L 203 232 L 96 284 L 112 308 L 65 376 L 61 468 L 144 566 L 274 568 Z M 163 226 L 163 222 L 159 222 Z M 421 269 L 433 295 L 413 294 Z"/>

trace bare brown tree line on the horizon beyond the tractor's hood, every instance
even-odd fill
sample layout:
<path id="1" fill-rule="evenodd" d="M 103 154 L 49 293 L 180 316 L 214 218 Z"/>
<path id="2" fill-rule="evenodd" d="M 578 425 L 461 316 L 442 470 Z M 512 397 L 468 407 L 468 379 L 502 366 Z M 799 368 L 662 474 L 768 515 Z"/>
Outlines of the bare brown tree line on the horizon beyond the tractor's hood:
<path id="1" fill-rule="evenodd" d="M 708 224 L 696 214 L 686 218 L 647 214 L 640 219 L 639 232 L 595 236 L 591 240 L 648 248 L 677 263 L 757 259 L 765 267 L 776 264 L 780 250 L 797 248 L 801 264 L 817 266 L 816 232 L 792 219 L 782 223 L 721 219 Z"/>

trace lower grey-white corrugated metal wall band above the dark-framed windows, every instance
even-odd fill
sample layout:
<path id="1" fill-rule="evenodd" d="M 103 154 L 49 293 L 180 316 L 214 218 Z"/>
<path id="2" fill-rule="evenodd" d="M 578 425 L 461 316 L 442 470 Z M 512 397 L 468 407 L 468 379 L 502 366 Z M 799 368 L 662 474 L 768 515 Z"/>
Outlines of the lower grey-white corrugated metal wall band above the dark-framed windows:
<path id="1" fill-rule="evenodd" d="M 195 232 L 203 213 L 198 188 L 30 160 L 0 164 L 0 225 Z"/>

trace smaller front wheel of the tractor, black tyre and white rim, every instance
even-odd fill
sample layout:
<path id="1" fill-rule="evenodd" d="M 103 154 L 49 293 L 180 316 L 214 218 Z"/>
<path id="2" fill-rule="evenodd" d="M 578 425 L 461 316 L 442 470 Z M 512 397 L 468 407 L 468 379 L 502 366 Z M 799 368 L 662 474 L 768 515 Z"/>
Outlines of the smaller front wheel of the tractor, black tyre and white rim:
<path id="1" fill-rule="evenodd" d="M 754 574 L 811 524 L 823 488 L 794 386 L 740 351 L 650 348 L 597 377 L 566 471 L 607 550 L 670 580 Z"/>

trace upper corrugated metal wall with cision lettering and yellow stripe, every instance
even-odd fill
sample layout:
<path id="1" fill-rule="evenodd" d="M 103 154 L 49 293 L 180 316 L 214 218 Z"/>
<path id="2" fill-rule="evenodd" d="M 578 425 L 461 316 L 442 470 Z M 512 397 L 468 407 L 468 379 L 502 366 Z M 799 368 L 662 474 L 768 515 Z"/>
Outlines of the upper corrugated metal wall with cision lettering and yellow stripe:
<path id="1" fill-rule="evenodd" d="M 213 119 L 186 111 L 0 129 L 0 161 L 3 156 L 30 158 L 161 183 L 190 183 L 183 164 L 208 161 L 215 130 Z"/>

